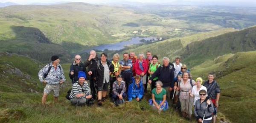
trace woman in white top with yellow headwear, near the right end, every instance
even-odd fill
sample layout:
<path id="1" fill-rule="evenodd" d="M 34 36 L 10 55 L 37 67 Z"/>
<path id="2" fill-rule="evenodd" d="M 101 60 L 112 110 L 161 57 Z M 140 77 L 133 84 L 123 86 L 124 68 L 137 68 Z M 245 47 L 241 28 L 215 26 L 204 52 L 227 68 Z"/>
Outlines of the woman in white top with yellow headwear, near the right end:
<path id="1" fill-rule="evenodd" d="M 196 78 L 196 80 L 195 80 L 196 85 L 193 86 L 192 91 L 189 90 L 190 96 L 194 97 L 194 103 L 193 103 L 194 106 L 195 106 L 195 101 L 200 99 L 199 91 L 204 89 L 207 92 L 207 88 L 202 85 L 202 82 L 203 82 L 203 79 L 201 77 Z M 206 96 L 207 96 L 207 94 L 206 94 Z"/>

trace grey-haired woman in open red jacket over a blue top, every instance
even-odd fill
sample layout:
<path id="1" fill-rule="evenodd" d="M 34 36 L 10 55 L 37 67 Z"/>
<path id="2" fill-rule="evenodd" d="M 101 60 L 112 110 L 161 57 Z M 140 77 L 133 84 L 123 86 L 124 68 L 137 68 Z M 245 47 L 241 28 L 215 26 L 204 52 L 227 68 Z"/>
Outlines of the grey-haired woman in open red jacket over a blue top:
<path id="1" fill-rule="evenodd" d="M 141 76 L 143 85 L 146 84 L 146 74 L 148 71 L 148 63 L 146 62 L 146 60 L 144 58 L 145 58 L 144 54 L 140 53 L 139 59 L 137 59 L 137 61 L 135 62 L 135 65 L 134 65 L 136 75 Z"/>

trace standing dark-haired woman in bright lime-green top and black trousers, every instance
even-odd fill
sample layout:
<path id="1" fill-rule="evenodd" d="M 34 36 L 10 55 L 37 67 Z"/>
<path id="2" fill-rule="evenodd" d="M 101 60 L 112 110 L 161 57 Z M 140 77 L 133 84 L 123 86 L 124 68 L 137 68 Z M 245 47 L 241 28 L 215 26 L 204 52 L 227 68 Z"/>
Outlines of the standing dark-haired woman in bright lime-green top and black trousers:
<path id="1" fill-rule="evenodd" d="M 152 57 L 152 63 L 149 65 L 148 73 L 149 77 L 151 78 L 152 74 L 157 71 L 157 68 L 161 66 L 161 64 L 157 61 L 158 57 L 154 55 Z M 154 78 L 151 83 L 151 91 L 156 87 L 156 81 L 158 81 L 158 77 Z"/>

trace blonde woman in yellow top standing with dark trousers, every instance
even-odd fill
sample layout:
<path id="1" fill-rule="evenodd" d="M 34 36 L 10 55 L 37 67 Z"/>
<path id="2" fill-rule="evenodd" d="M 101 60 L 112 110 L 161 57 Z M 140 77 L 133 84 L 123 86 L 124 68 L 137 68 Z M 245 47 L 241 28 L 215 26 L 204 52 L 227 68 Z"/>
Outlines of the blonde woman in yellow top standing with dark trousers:
<path id="1" fill-rule="evenodd" d="M 121 73 L 121 68 L 119 64 L 119 54 L 116 53 L 113 56 L 113 61 L 111 62 L 114 68 L 114 72 L 110 75 L 110 90 L 109 90 L 109 97 L 112 98 L 112 90 L 113 90 L 113 83 L 116 81 L 116 77 Z"/>

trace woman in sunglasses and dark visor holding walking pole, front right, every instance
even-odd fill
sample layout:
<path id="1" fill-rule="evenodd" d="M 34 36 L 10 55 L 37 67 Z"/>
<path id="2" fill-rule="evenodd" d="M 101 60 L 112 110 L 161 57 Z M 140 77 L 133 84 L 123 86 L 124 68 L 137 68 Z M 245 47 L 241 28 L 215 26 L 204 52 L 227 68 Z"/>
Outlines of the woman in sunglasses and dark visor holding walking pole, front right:
<path id="1" fill-rule="evenodd" d="M 195 101 L 195 117 L 198 123 L 212 123 L 212 113 L 214 112 L 213 103 L 207 98 L 207 91 L 199 91 L 200 99 Z"/>

